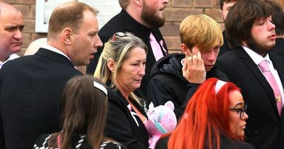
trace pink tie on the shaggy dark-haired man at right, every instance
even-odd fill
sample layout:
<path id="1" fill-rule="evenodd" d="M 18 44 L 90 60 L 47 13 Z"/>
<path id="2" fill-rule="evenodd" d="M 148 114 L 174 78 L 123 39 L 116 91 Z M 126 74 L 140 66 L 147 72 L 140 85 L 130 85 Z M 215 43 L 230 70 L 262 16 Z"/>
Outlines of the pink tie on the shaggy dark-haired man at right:
<path id="1" fill-rule="evenodd" d="M 261 68 L 261 71 L 263 72 L 264 77 L 266 77 L 266 80 L 269 82 L 269 84 L 271 84 L 271 87 L 273 89 L 274 96 L 275 96 L 275 101 L 276 101 L 276 104 L 277 104 L 278 114 L 279 114 L 279 116 L 281 116 L 283 104 L 282 104 L 280 89 L 277 85 L 277 82 L 276 82 L 275 78 L 273 77 L 266 60 L 263 60 L 258 65 L 258 67 Z"/>

